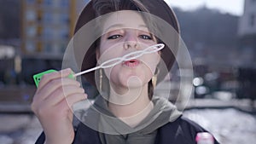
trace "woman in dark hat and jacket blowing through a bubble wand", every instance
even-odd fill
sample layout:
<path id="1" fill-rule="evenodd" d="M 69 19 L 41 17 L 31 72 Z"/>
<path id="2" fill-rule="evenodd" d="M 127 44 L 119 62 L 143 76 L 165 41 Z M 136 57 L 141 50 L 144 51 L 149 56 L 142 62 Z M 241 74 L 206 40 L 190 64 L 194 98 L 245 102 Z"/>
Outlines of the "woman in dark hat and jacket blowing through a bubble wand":
<path id="1" fill-rule="evenodd" d="M 101 95 L 76 128 L 69 106 L 86 99 L 84 89 L 67 78 L 70 69 L 44 75 L 32 102 L 44 129 L 37 143 L 196 143 L 196 134 L 205 130 L 183 118 L 166 99 L 154 95 L 155 84 L 171 69 L 177 51 L 179 29 L 172 9 L 162 0 L 93 0 L 79 16 L 75 43 L 80 43 L 81 36 L 98 37 L 97 32 L 84 31 L 91 20 L 95 20 L 94 31 L 99 30 L 101 37 L 85 49 L 83 70 L 157 43 L 169 40 L 171 44 L 167 47 L 165 43 L 161 51 L 85 74 Z M 167 31 L 170 37 L 162 34 L 166 29 L 161 31 L 159 20 L 173 27 L 173 32 Z M 80 50 L 74 49 L 75 54 Z"/>

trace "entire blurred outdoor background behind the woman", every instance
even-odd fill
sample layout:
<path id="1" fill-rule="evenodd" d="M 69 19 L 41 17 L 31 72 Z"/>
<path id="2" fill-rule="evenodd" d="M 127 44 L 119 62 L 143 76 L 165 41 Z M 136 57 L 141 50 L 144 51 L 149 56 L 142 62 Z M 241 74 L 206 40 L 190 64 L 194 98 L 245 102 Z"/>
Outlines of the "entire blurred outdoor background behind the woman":
<path id="1" fill-rule="evenodd" d="M 194 68 L 184 115 L 224 144 L 256 141 L 256 1 L 166 0 Z M 0 0 L 0 143 L 34 143 L 42 131 L 30 109 L 32 75 L 61 69 L 88 0 Z M 178 70 L 172 70 L 172 102 Z M 177 83 L 177 85 L 175 85 Z M 96 89 L 84 82 L 93 99 Z M 182 89 L 181 89 L 182 90 Z M 168 91 L 169 93 L 169 91 Z M 185 96 L 185 95 L 184 95 Z"/>

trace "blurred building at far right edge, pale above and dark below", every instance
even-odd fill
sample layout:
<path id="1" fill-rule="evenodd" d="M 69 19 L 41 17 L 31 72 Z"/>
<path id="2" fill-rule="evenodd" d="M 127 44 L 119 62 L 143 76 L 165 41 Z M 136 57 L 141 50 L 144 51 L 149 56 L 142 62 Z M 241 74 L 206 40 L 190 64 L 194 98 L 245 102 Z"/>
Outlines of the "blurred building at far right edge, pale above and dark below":
<path id="1" fill-rule="evenodd" d="M 237 90 L 239 98 L 256 100 L 256 0 L 245 0 L 244 14 L 241 16 L 238 36 L 240 68 Z M 252 101 L 253 105 L 253 101 Z"/>

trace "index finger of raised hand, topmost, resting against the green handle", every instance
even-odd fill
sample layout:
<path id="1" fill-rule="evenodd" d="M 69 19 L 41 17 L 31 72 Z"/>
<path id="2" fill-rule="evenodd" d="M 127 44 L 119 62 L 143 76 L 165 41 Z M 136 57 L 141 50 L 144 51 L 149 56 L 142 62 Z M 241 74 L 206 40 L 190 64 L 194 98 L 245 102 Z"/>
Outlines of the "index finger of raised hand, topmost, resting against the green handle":
<path id="1" fill-rule="evenodd" d="M 67 69 L 61 70 L 59 72 L 51 72 L 51 73 L 44 74 L 44 76 L 41 78 L 41 81 L 38 85 L 38 90 L 44 88 L 44 85 L 48 84 L 49 81 L 51 81 L 52 79 L 65 78 L 72 72 L 73 71 L 70 68 L 67 68 Z"/>

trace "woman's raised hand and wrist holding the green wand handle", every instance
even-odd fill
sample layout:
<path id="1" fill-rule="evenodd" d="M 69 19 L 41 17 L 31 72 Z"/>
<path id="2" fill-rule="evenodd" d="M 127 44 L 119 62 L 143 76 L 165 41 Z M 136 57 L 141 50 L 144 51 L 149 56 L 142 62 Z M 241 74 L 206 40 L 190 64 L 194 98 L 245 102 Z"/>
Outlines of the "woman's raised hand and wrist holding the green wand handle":
<path id="1" fill-rule="evenodd" d="M 67 78 L 71 69 L 45 74 L 32 101 L 32 111 L 43 126 L 47 144 L 71 144 L 74 103 L 87 98 L 79 82 Z"/>

